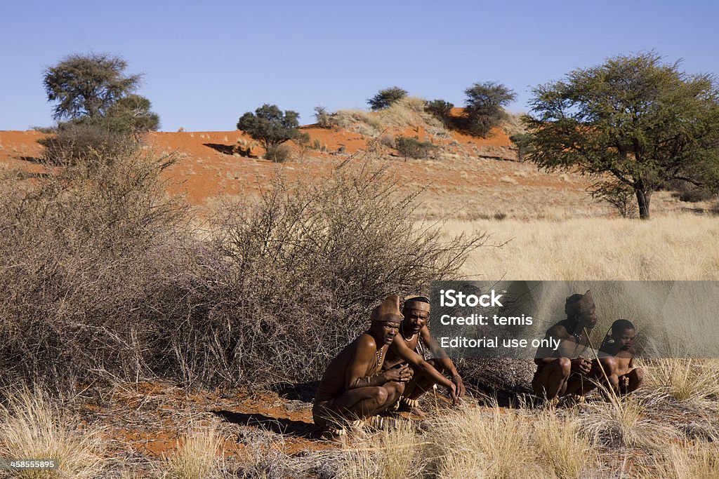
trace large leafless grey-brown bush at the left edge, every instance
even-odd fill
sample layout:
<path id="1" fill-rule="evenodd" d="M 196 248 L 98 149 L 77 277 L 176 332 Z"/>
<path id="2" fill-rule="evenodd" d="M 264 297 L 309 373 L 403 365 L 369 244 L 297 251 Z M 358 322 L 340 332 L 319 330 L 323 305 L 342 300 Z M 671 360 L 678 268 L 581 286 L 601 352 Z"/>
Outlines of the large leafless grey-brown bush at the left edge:
<path id="1" fill-rule="evenodd" d="M 172 367 L 197 255 L 158 177 L 167 161 L 91 152 L 33 182 L 1 179 L 1 382 L 73 388 Z"/>

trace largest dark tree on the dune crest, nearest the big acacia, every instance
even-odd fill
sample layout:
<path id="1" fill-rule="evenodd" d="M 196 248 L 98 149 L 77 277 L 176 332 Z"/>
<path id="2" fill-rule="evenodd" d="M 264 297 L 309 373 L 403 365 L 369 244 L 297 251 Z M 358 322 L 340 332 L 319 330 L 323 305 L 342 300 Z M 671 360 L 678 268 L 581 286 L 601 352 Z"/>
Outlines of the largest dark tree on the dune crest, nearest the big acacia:
<path id="1" fill-rule="evenodd" d="M 464 90 L 464 95 L 467 96 L 464 102 L 464 129 L 482 138 L 486 138 L 491 129 L 508 118 L 503 107 L 517 97 L 505 85 L 493 81 L 475 83 Z"/>

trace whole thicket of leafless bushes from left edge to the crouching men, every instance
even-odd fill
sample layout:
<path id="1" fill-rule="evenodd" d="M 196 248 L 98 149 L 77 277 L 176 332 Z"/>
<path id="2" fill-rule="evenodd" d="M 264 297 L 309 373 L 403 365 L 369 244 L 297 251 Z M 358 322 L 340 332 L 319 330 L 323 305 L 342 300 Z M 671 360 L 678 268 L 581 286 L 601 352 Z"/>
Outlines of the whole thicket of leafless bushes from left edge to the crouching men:
<path id="1" fill-rule="evenodd" d="M 0 383 L 313 380 L 378 299 L 454 277 L 482 241 L 416 227 L 416 192 L 384 171 L 277 180 L 201 241 L 165 193 L 167 162 L 130 152 L 0 181 Z"/>

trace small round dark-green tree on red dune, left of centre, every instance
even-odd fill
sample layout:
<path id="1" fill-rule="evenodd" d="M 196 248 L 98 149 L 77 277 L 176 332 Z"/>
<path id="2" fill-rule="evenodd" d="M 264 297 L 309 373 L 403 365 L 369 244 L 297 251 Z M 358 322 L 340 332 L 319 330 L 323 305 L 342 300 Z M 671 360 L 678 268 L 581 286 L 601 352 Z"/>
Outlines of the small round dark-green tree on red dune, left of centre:
<path id="1" fill-rule="evenodd" d="M 265 103 L 255 110 L 247 111 L 237 121 L 237 129 L 260 141 L 265 152 L 289 140 L 308 140 L 309 135 L 299 129 L 300 114 L 287 110 L 284 113 L 277 105 Z"/>

